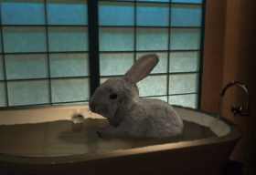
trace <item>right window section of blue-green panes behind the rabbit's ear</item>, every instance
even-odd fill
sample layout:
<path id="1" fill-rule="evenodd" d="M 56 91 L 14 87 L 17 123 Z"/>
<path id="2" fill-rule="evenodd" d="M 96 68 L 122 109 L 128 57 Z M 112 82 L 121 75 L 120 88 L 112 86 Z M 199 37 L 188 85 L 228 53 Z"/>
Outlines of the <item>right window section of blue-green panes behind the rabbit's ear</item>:
<path id="1" fill-rule="evenodd" d="M 138 57 L 155 53 L 158 65 L 138 83 L 141 98 L 197 108 L 204 3 L 100 0 L 101 83 L 122 77 Z"/>

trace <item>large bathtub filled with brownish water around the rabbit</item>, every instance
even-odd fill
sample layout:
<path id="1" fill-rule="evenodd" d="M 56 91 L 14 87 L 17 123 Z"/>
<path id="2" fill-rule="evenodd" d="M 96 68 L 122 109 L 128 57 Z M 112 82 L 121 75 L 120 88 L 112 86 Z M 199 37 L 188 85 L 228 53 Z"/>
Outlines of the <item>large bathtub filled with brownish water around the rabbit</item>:
<path id="1" fill-rule="evenodd" d="M 207 113 L 175 108 L 186 136 L 168 140 L 97 138 L 106 120 L 87 106 L 0 110 L 0 174 L 221 174 L 239 132 Z M 82 130 L 73 130 L 75 114 L 88 121 Z"/>

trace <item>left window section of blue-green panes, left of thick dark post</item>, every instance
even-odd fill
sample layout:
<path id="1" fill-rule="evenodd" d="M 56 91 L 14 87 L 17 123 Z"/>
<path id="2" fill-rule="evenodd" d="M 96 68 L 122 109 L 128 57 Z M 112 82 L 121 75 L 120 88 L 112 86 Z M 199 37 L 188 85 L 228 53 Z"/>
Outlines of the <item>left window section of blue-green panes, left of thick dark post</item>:
<path id="1" fill-rule="evenodd" d="M 87 102 L 86 0 L 2 0 L 0 107 Z"/>

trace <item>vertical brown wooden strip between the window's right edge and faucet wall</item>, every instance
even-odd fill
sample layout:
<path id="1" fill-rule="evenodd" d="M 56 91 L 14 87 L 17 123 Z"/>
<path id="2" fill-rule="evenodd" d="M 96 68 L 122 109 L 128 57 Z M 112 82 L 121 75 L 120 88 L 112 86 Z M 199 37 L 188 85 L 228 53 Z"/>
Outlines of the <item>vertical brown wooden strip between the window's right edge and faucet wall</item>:
<path id="1" fill-rule="evenodd" d="M 206 6 L 201 108 L 218 112 L 222 87 L 226 1 L 208 0 Z"/>

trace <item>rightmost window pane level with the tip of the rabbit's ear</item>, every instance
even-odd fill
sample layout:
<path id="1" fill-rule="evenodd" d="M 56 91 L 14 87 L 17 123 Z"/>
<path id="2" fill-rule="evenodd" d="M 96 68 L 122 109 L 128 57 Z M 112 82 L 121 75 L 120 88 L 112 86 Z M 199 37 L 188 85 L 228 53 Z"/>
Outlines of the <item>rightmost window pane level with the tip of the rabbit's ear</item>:
<path id="1" fill-rule="evenodd" d="M 199 52 L 171 52 L 169 72 L 195 72 L 199 69 Z"/>

